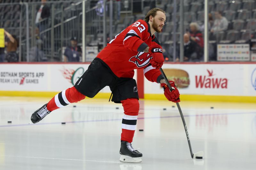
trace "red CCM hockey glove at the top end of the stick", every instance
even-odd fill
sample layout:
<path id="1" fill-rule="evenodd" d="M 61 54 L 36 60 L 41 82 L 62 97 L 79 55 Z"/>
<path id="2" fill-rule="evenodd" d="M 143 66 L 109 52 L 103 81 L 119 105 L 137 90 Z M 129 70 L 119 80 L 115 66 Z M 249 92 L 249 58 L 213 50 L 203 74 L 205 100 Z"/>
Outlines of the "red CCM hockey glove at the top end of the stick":
<path id="1" fill-rule="evenodd" d="M 162 53 L 162 48 L 160 45 L 154 45 L 149 47 L 149 54 L 152 55 L 153 58 L 149 61 L 152 67 L 156 67 L 160 69 L 164 63 L 164 55 Z"/>

